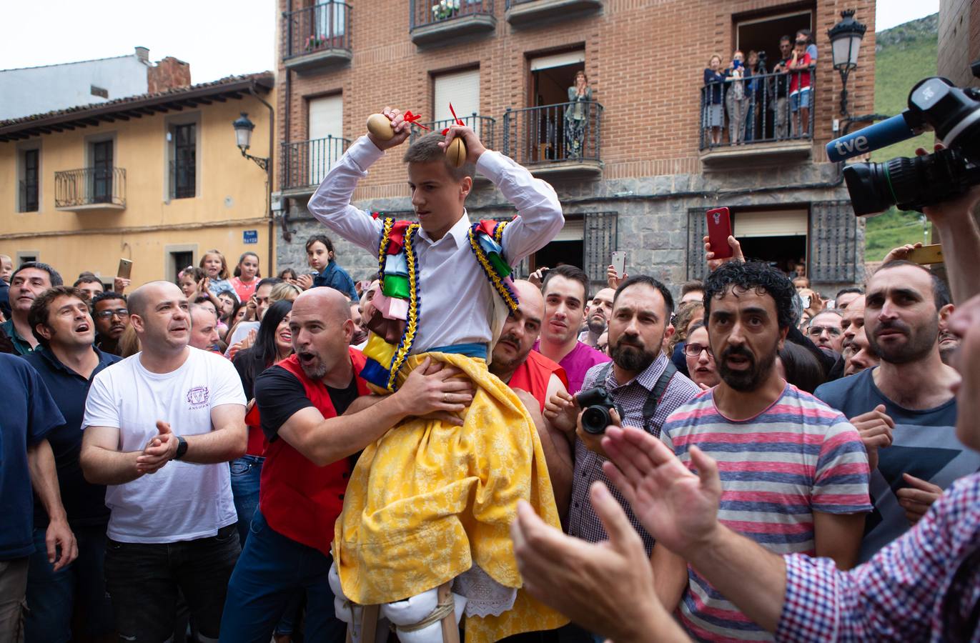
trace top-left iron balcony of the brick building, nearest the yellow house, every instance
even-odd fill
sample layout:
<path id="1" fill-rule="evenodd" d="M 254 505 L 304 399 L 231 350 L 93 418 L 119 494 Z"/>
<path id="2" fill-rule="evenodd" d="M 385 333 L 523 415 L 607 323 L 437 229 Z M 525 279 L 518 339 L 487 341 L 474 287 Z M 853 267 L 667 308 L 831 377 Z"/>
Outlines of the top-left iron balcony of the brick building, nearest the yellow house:
<path id="1" fill-rule="evenodd" d="M 324 2 L 282 14 L 282 64 L 299 74 L 350 62 L 351 6 Z"/>

